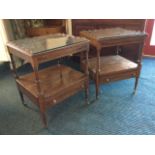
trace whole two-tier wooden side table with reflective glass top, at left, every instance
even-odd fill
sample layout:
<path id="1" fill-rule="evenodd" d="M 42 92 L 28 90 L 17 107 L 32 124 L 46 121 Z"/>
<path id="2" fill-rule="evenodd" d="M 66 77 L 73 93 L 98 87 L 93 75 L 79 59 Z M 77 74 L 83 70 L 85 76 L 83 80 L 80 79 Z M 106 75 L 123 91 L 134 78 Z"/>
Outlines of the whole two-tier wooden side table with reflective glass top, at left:
<path id="1" fill-rule="evenodd" d="M 25 105 L 23 97 L 25 94 L 39 106 L 45 127 L 47 127 L 45 111 L 48 106 L 53 106 L 83 89 L 86 102 L 88 101 L 89 41 L 87 39 L 53 34 L 11 41 L 7 43 L 7 47 L 22 103 Z M 81 53 L 86 57 L 84 73 L 62 64 L 38 69 L 40 63 L 75 53 Z M 18 76 L 14 56 L 29 62 L 34 72 Z"/>

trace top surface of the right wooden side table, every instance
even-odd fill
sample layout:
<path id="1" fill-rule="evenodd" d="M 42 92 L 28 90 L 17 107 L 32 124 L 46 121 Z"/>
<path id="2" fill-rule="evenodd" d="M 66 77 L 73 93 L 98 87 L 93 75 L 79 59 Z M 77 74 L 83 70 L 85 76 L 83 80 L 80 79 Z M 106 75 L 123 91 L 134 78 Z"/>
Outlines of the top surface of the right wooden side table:
<path id="1" fill-rule="evenodd" d="M 80 34 L 88 39 L 94 40 L 109 40 L 125 37 L 146 36 L 145 32 L 128 30 L 120 27 L 81 31 Z"/>

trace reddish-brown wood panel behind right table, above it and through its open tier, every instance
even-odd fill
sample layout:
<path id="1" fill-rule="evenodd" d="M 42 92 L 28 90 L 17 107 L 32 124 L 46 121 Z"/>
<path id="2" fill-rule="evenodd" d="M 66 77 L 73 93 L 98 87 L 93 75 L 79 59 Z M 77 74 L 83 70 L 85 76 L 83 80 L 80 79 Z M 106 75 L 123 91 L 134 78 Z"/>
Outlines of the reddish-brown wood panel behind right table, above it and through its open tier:
<path id="1" fill-rule="evenodd" d="M 122 27 L 129 30 L 144 31 L 145 19 L 73 19 L 72 30 L 74 35 L 79 35 L 83 30 L 105 29 L 112 27 Z M 124 45 L 120 55 L 132 61 L 136 61 L 138 46 L 136 44 Z M 101 50 L 101 55 L 115 54 L 116 47 L 108 47 Z M 130 52 L 128 52 L 130 51 Z M 94 57 L 96 49 L 90 47 L 89 57 Z"/>

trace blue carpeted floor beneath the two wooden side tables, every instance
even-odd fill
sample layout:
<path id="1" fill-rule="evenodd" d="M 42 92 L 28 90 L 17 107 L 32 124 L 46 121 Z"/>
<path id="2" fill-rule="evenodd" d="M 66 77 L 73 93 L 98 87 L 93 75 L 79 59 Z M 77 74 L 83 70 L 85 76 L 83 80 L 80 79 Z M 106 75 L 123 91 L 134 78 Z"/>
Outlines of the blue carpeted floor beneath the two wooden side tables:
<path id="1" fill-rule="evenodd" d="M 22 70 L 22 69 L 21 69 Z M 29 71 L 29 67 L 24 70 Z M 22 71 L 21 71 L 22 73 Z M 134 79 L 105 84 L 95 101 L 90 83 L 90 104 L 79 92 L 47 111 L 44 129 L 38 108 L 26 98 L 22 106 L 8 66 L 0 65 L 0 134 L 3 135 L 137 135 L 155 134 L 155 59 L 145 58 L 136 95 Z"/>

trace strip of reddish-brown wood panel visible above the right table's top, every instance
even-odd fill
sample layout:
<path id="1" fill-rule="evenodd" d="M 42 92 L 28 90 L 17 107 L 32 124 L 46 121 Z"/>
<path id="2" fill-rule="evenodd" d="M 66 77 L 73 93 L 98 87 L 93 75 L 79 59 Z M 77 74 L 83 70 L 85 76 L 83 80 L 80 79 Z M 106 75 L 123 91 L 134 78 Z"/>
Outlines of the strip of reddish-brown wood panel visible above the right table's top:
<path id="1" fill-rule="evenodd" d="M 83 30 L 111 27 L 144 31 L 145 19 L 72 19 L 72 30 L 74 35 L 79 35 Z"/>

